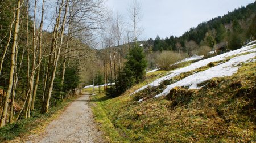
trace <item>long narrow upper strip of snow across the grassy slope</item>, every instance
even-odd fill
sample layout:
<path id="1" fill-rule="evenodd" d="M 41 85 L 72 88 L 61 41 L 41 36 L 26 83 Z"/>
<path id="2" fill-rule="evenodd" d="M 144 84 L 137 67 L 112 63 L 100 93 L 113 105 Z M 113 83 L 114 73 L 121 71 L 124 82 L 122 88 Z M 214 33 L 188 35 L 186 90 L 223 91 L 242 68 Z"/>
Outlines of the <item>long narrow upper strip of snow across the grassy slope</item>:
<path id="1" fill-rule="evenodd" d="M 191 71 L 191 70 L 195 70 L 195 69 L 203 67 L 203 66 L 207 66 L 207 64 L 209 64 L 210 62 L 217 62 L 217 61 L 223 60 L 227 57 L 230 57 L 232 55 L 237 55 L 237 54 L 242 54 L 242 53 L 247 53 L 247 52 L 255 52 L 256 49 L 253 48 L 253 46 L 255 46 L 255 45 L 256 44 L 245 46 L 245 47 L 242 47 L 241 49 L 237 49 L 237 50 L 230 51 L 230 52 L 227 52 L 227 53 L 224 53 L 224 54 L 221 54 L 221 55 L 217 55 L 217 56 L 212 57 L 212 58 L 200 60 L 198 62 L 190 64 L 187 67 L 183 67 L 183 68 L 180 68 L 180 69 L 177 69 L 177 70 L 174 70 L 174 71 L 170 71 L 169 75 L 166 75 L 164 77 L 156 79 L 152 83 L 147 84 L 145 86 L 142 86 L 142 88 L 139 88 L 138 90 L 136 90 L 135 92 L 133 92 L 131 94 L 134 94 L 134 93 L 137 93 L 141 90 L 144 90 L 149 86 L 159 86 L 160 83 L 162 83 L 162 81 L 164 81 L 164 80 L 170 80 L 172 77 L 180 75 L 181 73 L 188 72 L 188 71 Z"/>

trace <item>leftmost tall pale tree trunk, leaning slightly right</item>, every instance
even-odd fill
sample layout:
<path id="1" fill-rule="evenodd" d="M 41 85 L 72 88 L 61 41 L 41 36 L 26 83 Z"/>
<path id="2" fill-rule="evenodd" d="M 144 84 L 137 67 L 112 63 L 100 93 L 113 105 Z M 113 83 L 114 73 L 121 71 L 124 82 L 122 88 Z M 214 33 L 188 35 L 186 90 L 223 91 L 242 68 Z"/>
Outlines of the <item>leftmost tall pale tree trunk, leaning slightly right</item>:
<path id="1" fill-rule="evenodd" d="M 18 0 L 17 12 L 16 12 L 16 23 L 15 23 L 15 28 L 14 28 L 14 41 L 13 41 L 13 46 L 11 48 L 11 67 L 10 67 L 10 75 L 9 75 L 9 85 L 8 85 L 7 93 L 5 96 L 5 103 L 3 106 L 3 113 L 1 116 L 0 127 L 3 127 L 5 125 L 9 97 L 11 95 L 11 89 L 13 88 L 13 75 L 14 75 L 14 68 L 15 68 L 15 64 L 16 64 L 15 53 L 16 53 L 16 44 L 17 44 L 17 40 L 18 40 L 20 5 L 21 5 L 21 0 Z"/>

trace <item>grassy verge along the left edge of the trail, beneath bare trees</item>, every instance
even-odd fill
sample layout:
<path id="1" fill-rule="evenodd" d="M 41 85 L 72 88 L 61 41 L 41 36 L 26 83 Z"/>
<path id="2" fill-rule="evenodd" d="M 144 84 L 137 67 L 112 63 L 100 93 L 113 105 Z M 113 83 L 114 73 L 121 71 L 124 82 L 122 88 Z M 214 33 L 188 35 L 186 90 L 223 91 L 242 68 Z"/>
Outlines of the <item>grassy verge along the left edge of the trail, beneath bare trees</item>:
<path id="1" fill-rule="evenodd" d="M 39 110 L 31 112 L 30 118 L 21 119 L 17 123 L 7 124 L 0 128 L 0 142 L 14 140 L 16 137 L 24 137 L 33 132 L 36 128 L 42 127 L 48 123 L 52 117 L 59 114 L 64 107 L 73 101 L 76 97 L 64 99 L 59 106 L 51 107 L 46 114 L 41 114 Z"/>

